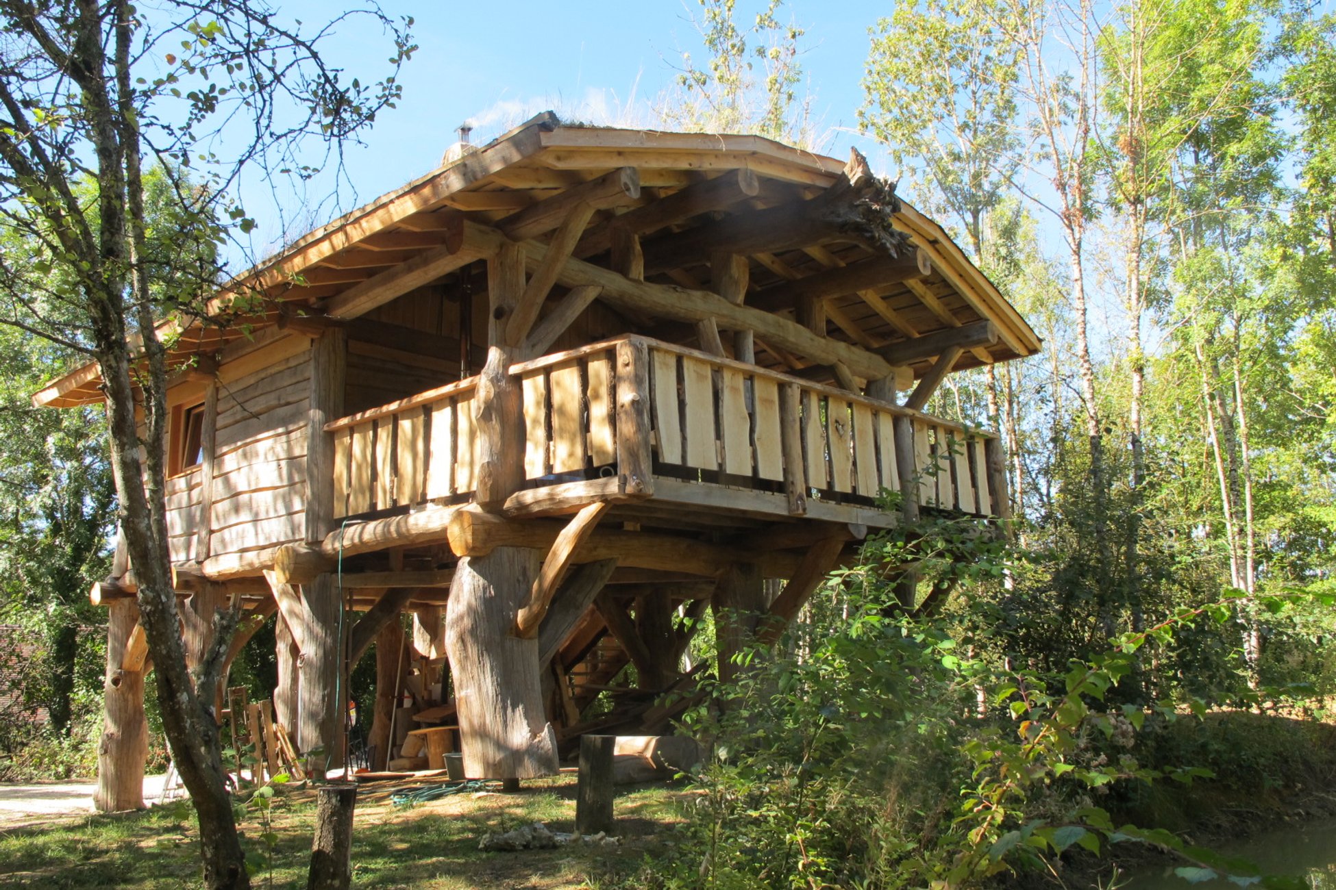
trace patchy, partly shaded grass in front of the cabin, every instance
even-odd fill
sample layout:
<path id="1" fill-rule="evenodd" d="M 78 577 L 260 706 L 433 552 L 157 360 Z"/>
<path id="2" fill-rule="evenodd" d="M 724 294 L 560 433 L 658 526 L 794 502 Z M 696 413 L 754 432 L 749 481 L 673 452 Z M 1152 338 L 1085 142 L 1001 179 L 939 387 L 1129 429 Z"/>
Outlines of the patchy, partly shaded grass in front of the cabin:
<path id="1" fill-rule="evenodd" d="M 353 883 L 358 887 L 465 890 L 525 887 L 605 890 L 636 886 L 645 853 L 659 847 L 679 819 L 680 786 L 628 787 L 616 802 L 617 847 L 572 845 L 556 850 L 480 853 L 489 831 L 545 822 L 554 831 L 574 826 L 573 775 L 525 782 L 518 794 L 458 794 L 395 806 L 393 790 L 363 786 L 353 837 Z M 418 786 L 421 787 L 421 786 Z M 500 786 L 496 786 L 500 787 Z M 305 887 L 315 819 L 314 793 L 285 790 L 274 798 L 278 835 L 270 873 L 257 887 Z M 240 821 L 247 853 L 262 850 L 258 811 Z M 184 802 L 143 813 L 96 815 L 51 826 L 0 833 L 0 887 L 186 887 L 198 883 L 199 850 L 194 811 Z"/>

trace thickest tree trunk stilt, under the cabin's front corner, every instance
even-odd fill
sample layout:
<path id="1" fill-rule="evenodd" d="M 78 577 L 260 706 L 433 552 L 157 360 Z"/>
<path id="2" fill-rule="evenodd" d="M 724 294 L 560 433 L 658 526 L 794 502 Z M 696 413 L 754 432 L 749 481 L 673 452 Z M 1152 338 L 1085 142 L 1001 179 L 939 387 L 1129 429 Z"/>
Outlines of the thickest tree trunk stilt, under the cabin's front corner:
<path id="1" fill-rule="evenodd" d="M 445 647 L 470 778 L 557 773 L 557 739 L 542 709 L 538 640 L 513 632 L 537 574 L 538 552 L 525 547 L 497 547 L 461 559 L 454 570 Z"/>

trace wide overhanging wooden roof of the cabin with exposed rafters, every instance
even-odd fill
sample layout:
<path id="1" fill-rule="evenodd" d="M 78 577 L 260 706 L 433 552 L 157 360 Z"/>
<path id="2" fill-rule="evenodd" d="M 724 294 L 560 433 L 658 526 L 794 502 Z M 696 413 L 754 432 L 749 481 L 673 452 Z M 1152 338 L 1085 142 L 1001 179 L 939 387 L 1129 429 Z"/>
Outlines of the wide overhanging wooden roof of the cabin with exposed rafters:
<path id="1" fill-rule="evenodd" d="M 608 220 L 637 212 L 637 228 L 651 227 L 640 232 L 647 280 L 707 290 L 709 251 L 689 250 L 692 242 L 708 248 L 715 230 L 707 227 L 717 228 L 735 216 L 772 207 L 802 208 L 803 201 L 844 180 L 846 164 L 759 136 L 572 127 L 545 112 L 298 239 L 236 276 L 211 302 L 211 311 L 219 311 L 234 295 L 258 291 L 266 298 L 266 312 L 230 319 L 226 326 L 192 319 L 164 323 L 166 331 L 179 335 L 172 359 L 184 363 L 194 355 L 212 356 L 222 351 L 226 360 L 228 347 L 244 348 L 244 340 L 255 330 L 299 327 L 307 314 L 354 318 L 377 304 L 371 295 L 383 302 L 385 294 L 406 292 L 441 278 L 445 274 L 441 270 L 460 268 L 477 259 L 460 254 L 461 226 L 489 231 L 496 226 L 514 240 L 530 238 L 529 231 L 541 236 L 556 228 L 536 219 L 544 207 L 553 204 L 553 197 L 573 196 L 572 189 L 605 195 L 604 185 L 616 187 L 619 183 L 613 180 L 625 179 L 627 168 L 639 183 L 629 188 L 621 181 L 617 195 L 621 200 L 596 203 L 601 209 L 591 220 L 574 256 L 600 262 L 609 243 Z M 729 176 L 739 177 L 740 185 L 723 181 Z M 720 181 L 705 185 L 713 180 Z M 695 188 L 685 191 L 691 187 Z M 721 196 L 728 191 L 733 193 L 725 200 Z M 705 200 L 707 192 L 717 200 Z M 665 203 L 673 195 L 680 196 L 676 204 Z M 705 203 L 693 207 L 697 196 Z M 966 351 L 957 370 L 1039 350 L 1030 326 L 941 226 L 899 200 L 891 227 L 922 258 L 921 263 L 930 263 L 931 272 L 874 287 L 862 287 L 856 275 L 850 278 L 854 282 L 850 287 L 859 290 L 826 300 L 830 336 L 887 356 L 899 350 L 898 355 L 911 356 L 900 364 L 912 367 L 916 375 L 926 371 L 937 354 L 927 348 L 930 343 L 949 336 L 953 328 L 982 322 L 995 327 L 995 342 Z M 691 235 L 693 231 L 699 238 Z M 786 295 L 791 296 L 794 282 L 811 286 L 819 280 L 812 278 L 816 275 L 887 262 L 882 246 L 867 239 L 824 238 L 819 243 L 782 247 L 737 251 L 751 260 L 748 306 L 791 314 L 792 299 L 786 302 Z M 452 255 L 454 262 L 449 262 Z M 927 335 L 939 336 L 922 340 Z M 912 340 L 922 340 L 923 348 L 906 346 Z M 919 355 L 925 351 L 929 354 Z M 790 370 L 803 364 L 800 356 L 782 355 L 782 350 L 759 350 L 758 360 L 787 364 Z M 33 403 L 67 407 L 98 402 L 102 398 L 98 386 L 98 368 L 87 364 L 35 394 Z"/>

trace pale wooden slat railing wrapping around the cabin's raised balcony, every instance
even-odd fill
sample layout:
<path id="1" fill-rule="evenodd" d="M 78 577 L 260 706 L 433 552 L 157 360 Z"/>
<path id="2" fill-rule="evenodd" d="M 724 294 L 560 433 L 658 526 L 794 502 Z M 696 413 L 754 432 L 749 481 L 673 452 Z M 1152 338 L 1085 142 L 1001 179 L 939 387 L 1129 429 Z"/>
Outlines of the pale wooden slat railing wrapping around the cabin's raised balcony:
<path id="1" fill-rule="evenodd" d="M 934 510 L 1001 512 L 995 436 L 916 411 L 639 336 L 510 370 L 522 382 L 526 430 L 526 487 L 506 503 L 513 515 L 652 500 L 688 518 L 727 511 L 886 527 L 899 511 L 882 508 L 883 490 Z M 335 515 L 466 500 L 477 479 L 476 383 L 327 424 Z"/>

